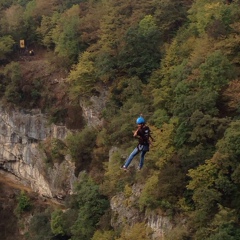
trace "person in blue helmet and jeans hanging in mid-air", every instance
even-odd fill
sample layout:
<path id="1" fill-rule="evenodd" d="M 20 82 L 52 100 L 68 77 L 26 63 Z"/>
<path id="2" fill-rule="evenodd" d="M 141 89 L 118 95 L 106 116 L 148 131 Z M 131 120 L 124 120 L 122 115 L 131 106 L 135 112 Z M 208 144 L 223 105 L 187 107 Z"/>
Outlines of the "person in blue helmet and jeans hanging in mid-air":
<path id="1" fill-rule="evenodd" d="M 140 116 L 136 120 L 137 130 L 134 131 L 133 137 L 138 138 L 138 145 L 134 148 L 132 153 L 129 155 L 124 165 L 121 167 L 123 170 L 127 170 L 133 158 L 140 154 L 140 161 L 138 165 L 138 170 L 141 170 L 144 164 L 145 154 L 149 151 L 149 145 L 153 138 L 151 136 L 150 128 L 146 125 L 145 119 Z"/>

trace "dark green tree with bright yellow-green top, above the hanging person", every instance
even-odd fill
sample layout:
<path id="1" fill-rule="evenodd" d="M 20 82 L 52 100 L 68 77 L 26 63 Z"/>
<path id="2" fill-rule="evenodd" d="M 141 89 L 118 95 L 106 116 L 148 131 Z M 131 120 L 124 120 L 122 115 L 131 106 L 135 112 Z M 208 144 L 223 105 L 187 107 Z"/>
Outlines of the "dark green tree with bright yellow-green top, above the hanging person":
<path id="1" fill-rule="evenodd" d="M 120 68 L 130 76 L 146 82 L 152 70 L 160 63 L 159 32 L 151 15 L 145 16 L 137 28 L 126 33 L 126 46 L 120 53 Z"/>

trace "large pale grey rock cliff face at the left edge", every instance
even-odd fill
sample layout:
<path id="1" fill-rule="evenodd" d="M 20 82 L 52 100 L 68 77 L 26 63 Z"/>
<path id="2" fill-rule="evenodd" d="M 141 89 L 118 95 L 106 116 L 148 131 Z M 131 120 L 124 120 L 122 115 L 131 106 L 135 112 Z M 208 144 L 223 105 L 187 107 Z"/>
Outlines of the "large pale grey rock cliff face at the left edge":
<path id="1" fill-rule="evenodd" d="M 39 146 L 51 138 L 63 140 L 67 133 L 66 127 L 49 124 L 39 110 L 0 107 L 0 167 L 33 191 L 62 198 L 72 190 L 74 166 L 66 156 L 61 164 L 46 168 L 46 154 Z"/>

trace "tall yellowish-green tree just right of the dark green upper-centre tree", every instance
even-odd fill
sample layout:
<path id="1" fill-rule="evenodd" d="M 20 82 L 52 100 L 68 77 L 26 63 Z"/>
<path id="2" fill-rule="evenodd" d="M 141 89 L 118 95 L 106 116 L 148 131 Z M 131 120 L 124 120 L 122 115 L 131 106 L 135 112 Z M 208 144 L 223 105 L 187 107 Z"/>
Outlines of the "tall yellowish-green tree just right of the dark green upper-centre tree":
<path id="1" fill-rule="evenodd" d="M 177 102 L 178 97 L 180 97 L 177 92 L 179 86 L 181 91 L 185 93 L 192 86 L 192 83 L 187 81 L 192 69 L 188 61 L 184 60 L 184 57 L 187 58 L 192 50 L 192 41 L 186 43 L 187 49 L 185 46 L 180 47 L 186 41 L 186 37 L 184 37 L 173 40 L 173 43 L 166 49 L 165 58 L 161 61 L 161 67 L 150 78 L 155 108 L 168 109 L 169 112 L 174 112 L 174 100 L 176 98 L 175 102 Z M 187 83 L 185 84 L 185 82 Z"/>

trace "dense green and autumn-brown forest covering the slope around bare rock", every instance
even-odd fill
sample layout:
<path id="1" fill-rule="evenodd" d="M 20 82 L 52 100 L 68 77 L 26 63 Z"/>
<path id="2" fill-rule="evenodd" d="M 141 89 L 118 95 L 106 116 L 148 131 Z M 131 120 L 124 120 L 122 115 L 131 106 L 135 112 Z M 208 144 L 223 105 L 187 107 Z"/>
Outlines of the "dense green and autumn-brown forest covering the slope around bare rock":
<path id="1" fill-rule="evenodd" d="M 26 100 L 12 61 L 20 39 L 55 54 L 54 64 L 68 73 L 71 104 L 108 92 L 103 125 L 65 143 L 76 174 L 86 171 L 69 210 L 36 215 L 31 239 L 140 239 L 142 231 L 149 239 L 141 223 L 114 232 L 104 214 L 108 200 L 135 182 L 144 186 L 139 211 L 160 208 L 186 219 L 166 239 L 240 239 L 239 7 L 239 0 L 0 2 L 4 102 Z M 36 82 L 32 89 L 38 106 L 45 89 Z M 143 171 L 129 176 L 119 166 L 135 144 L 140 113 L 155 143 Z M 112 146 L 119 153 L 108 162 Z"/>

